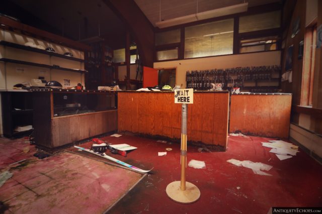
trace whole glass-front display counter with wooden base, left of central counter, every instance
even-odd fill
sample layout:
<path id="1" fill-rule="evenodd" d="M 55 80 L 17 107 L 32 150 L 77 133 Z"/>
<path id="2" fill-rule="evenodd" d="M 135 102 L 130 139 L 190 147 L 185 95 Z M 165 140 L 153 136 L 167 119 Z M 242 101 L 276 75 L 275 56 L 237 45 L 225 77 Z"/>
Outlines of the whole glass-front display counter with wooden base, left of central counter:
<path id="1" fill-rule="evenodd" d="M 33 89 L 36 144 L 53 149 L 117 130 L 116 92 Z"/>

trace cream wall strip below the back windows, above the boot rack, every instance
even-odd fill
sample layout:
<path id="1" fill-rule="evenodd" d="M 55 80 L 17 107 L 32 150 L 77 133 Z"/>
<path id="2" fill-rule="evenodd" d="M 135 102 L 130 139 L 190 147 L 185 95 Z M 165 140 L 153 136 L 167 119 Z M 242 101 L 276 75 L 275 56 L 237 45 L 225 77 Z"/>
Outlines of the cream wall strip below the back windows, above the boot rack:
<path id="1" fill-rule="evenodd" d="M 263 65 L 280 65 L 281 51 L 267 51 L 226 56 L 205 57 L 166 62 L 154 62 L 153 68 L 177 68 L 177 85 L 186 87 L 186 72 L 192 70 L 225 69 Z"/>

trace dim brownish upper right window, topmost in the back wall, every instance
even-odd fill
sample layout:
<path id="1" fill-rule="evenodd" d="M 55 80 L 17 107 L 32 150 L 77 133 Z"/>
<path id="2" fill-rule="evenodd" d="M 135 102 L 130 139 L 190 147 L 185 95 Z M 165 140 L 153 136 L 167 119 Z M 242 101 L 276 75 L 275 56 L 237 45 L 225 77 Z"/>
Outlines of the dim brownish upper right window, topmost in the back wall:
<path id="1" fill-rule="evenodd" d="M 280 22 L 281 22 L 280 11 L 273 11 L 273 12 L 264 13 L 264 14 L 240 17 L 239 33 L 279 28 Z"/>

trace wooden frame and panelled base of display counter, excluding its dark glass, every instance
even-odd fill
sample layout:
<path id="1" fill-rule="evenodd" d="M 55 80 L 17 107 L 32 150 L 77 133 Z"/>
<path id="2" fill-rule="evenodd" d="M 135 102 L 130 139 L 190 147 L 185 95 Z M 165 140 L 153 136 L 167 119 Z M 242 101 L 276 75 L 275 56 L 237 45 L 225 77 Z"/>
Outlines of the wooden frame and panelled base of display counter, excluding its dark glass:
<path id="1" fill-rule="evenodd" d="M 53 108 L 53 93 L 62 93 L 68 96 L 71 96 L 73 93 L 78 95 L 102 94 L 104 96 L 97 100 L 98 109 L 101 109 L 101 105 L 106 104 L 102 98 L 108 99 L 107 96 L 115 94 L 115 92 L 35 89 L 32 93 L 35 139 L 36 145 L 40 148 L 52 150 L 117 130 L 116 108 L 59 117 L 54 117 Z M 88 105 L 93 104 L 92 99 L 87 101 Z"/>

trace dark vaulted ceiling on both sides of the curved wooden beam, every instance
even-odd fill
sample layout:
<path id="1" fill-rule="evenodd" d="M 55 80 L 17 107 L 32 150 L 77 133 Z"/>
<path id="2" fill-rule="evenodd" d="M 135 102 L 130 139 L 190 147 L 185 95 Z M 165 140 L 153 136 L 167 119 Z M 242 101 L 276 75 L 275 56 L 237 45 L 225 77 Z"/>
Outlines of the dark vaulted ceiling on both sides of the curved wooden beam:
<path id="1" fill-rule="evenodd" d="M 74 40 L 93 36 L 122 37 L 126 27 L 102 0 L 7 0 Z M 121 0 L 119 0 L 121 1 Z M 162 20 L 249 3 L 249 7 L 282 0 L 133 0 L 152 26 Z M 124 5 L 126 7 L 126 5 Z M 134 17 L 135 18 L 135 17 Z M 87 21 L 85 21 L 87 20 Z M 87 23 L 87 24 L 86 24 Z M 87 26 L 87 31 L 85 30 Z"/>

